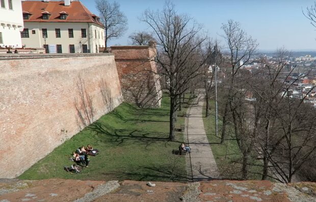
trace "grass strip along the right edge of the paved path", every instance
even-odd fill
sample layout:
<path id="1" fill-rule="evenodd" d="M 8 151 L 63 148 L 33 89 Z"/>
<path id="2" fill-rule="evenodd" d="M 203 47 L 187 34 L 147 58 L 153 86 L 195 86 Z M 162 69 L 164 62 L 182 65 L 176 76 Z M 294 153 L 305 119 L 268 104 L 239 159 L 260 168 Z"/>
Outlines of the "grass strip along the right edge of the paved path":
<path id="1" fill-rule="evenodd" d="M 228 126 L 228 135 L 227 139 L 224 140 L 222 144 L 221 142 L 221 129 L 222 129 L 222 117 L 219 115 L 218 117 L 218 136 L 216 136 L 215 129 L 215 101 L 210 101 L 210 116 L 209 118 L 205 118 L 205 107 L 206 103 L 203 106 L 203 122 L 204 129 L 206 132 L 207 139 L 210 143 L 210 147 L 212 148 L 212 152 L 216 161 L 216 164 L 219 168 L 220 174 L 225 179 L 240 179 L 241 178 L 241 164 L 234 163 L 236 161 L 241 160 L 242 153 L 237 145 L 236 140 L 234 139 L 232 128 Z M 241 162 L 241 161 L 240 161 Z M 257 164 L 260 164 L 260 161 L 256 160 Z M 250 167 L 252 172 L 260 172 L 260 167 L 252 166 Z M 249 179 L 261 180 L 260 175 L 249 174 Z"/>

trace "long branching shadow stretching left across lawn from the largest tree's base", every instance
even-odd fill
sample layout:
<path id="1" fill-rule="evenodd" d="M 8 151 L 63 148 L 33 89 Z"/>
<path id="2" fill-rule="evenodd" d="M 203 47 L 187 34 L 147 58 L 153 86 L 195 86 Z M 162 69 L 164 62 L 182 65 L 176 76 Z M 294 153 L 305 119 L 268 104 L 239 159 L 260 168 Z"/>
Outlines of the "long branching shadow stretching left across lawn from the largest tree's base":
<path id="1" fill-rule="evenodd" d="M 162 137 L 165 135 L 164 133 L 155 132 L 157 136 L 153 136 L 147 131 L 106 128 L 98 122 L 90 125 L 88 128 L 95 132 L 94 138 L 98 141 L 102 143 L 111 142 L 116 146 L 123 145 L 124 143 L 142 143 L 147 148 L 152 143 L 161 141 L 166 143 L 170 142 L 168 137 Z M 104 135 L 106 135 L 106 137 Z"/>

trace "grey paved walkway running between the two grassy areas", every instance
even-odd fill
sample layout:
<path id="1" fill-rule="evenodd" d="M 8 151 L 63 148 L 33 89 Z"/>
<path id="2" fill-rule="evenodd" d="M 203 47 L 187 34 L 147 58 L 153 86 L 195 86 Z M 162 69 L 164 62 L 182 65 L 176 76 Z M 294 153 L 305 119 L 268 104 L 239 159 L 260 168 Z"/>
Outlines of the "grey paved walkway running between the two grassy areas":
<path id="1" fill-rule="evenodd" d="M 200 99 L 199 99 L 200 97 Z M 186 131 L 187 141 L 191 148 L 191 154 L 187 154 L 188 174 L 193 181 L 212 180 L 219 178 L 218 168 L 210 149 L 202 120 L 202 108 L 204 104 L 203 91 L 199 91 L 195 100 L 197 105 L 191 105 L 187 112 Z"/>

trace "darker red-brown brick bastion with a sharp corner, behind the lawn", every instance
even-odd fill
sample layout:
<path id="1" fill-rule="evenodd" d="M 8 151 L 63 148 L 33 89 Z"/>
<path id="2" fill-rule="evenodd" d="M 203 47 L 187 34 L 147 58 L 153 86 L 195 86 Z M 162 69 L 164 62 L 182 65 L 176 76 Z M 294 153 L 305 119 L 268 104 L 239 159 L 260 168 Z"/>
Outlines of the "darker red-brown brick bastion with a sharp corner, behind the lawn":
<path id="1" fill-rule="evenodd" d="M 140 107 L 160 107 L 161 87 L 153 60 L 155 47 L 112 46 L 124 100 Z"/>

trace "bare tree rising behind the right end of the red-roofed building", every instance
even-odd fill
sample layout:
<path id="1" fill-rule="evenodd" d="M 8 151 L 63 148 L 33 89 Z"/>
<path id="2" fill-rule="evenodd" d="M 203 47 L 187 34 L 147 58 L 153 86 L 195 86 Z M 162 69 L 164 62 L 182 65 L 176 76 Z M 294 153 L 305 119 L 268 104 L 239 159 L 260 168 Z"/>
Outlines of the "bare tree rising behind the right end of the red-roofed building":
<path id="1" fill-rule="evenodd" d="M 117 2 L 111 4 L 108 0 L 95 0 L 96 9 L 104 25 L 104 33 L 107 47 L 108 40 L 121 37 L 127 30 L 127 18 L 120 11 L 120 5 Z"/>

